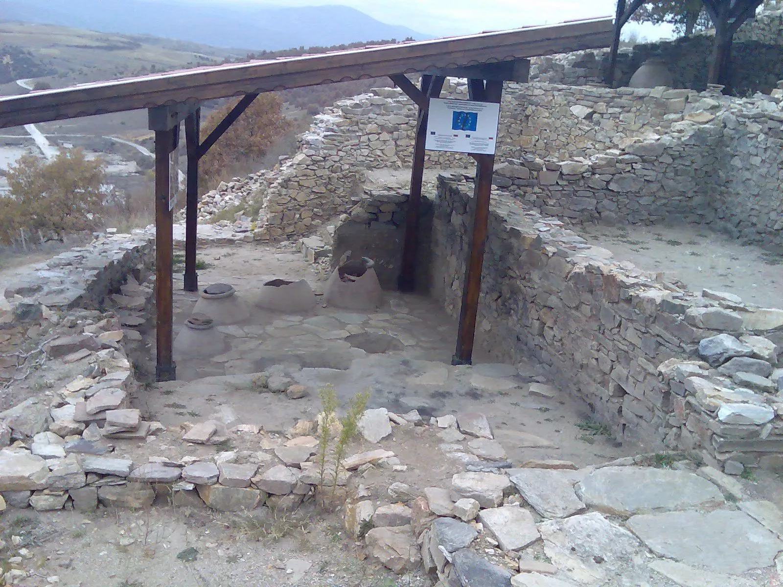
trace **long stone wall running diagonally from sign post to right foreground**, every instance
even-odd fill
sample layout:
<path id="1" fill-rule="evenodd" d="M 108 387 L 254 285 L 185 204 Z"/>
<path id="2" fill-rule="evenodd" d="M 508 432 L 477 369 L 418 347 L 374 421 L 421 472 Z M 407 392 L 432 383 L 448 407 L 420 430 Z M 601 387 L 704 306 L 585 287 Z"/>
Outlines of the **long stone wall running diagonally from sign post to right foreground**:
<path id="1" fill-rule="evenodd" d="M 431 294 L 458 315 L 472 182 L 439 179 Z M 783 310 L 694 294 L 612 261 L 608 250 L 500 191 L 489 217 L 477 342 L 504 360 L 535 355 L 617 438 L 699 449 L 735 472 L 783 454 L 783 370 L 775 369 Z"/>

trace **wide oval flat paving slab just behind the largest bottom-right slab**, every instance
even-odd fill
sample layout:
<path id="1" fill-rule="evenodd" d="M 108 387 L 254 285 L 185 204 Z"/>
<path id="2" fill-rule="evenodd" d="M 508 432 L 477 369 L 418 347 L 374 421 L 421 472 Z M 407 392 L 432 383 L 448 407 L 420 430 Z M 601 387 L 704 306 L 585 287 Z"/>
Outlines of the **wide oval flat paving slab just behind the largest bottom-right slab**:
<path id="1" fill-rule="evenodd" d="M 584 477 L 576 492 L 596 510 L 625 516 L 720 506 L 724 501 L 715 485 L 696 474 L 644 466 L 604 466 Z"/>

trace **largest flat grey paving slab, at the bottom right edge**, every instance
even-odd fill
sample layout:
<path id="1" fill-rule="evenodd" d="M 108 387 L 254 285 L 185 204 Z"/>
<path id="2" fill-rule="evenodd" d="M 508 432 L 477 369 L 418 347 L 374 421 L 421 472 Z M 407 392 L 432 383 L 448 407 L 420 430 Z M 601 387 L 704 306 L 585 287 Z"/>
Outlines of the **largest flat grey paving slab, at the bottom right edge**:
<path id="1" fill-rule="evenodd" d="M 626 526 L 659 556 L 716 573 L 769 567 L 783 549 L 777 536 L 740 511 L 641 514 Z"/>

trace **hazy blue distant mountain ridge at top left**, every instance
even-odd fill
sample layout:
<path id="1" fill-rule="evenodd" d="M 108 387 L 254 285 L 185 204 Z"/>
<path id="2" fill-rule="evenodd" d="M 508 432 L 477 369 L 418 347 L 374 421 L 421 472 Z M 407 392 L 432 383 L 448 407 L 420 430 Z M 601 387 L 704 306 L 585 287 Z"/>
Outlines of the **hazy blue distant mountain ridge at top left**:
<path id="1" fill-rule="evenodd" d="M 256 51 L 431 38 L 340 5 L 270 8 L 247 2 L 207 5 L 184 0 L 0 0 L 0 20 L 153 34 Z"/>

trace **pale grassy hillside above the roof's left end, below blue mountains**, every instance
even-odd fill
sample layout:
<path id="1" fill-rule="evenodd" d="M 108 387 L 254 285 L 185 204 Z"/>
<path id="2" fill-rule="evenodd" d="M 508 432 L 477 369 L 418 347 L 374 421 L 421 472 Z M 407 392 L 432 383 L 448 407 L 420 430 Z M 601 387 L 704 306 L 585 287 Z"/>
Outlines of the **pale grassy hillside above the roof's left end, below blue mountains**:
<path id="1" fill-rule="evenodd" d="M 0 22 L 0 85 L 50 77 L 49 83 L 58 87 L 146 73 L 151 67 L 174 70 L 239 56 L 244 52 L 172 39 Z M 12 90 L 0 87 L 0 93 Z"/>

